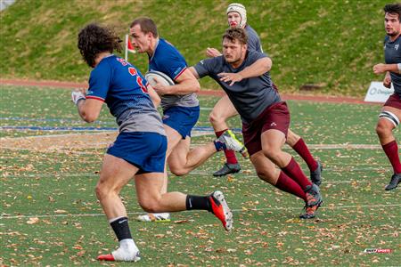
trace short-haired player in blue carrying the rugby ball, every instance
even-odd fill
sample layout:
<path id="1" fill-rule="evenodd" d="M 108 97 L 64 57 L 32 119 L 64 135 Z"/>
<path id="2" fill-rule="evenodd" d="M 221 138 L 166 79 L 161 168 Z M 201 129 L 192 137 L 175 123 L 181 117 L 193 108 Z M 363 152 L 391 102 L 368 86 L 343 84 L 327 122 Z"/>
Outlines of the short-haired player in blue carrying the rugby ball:
<path id="1" fill-rule="evenodd" d="M 165 73 L 176 85 L 153 85 L 161 97 L 163 125 L 168 138 L 166 153 L 168 167 L 176 175 L 188 174 L 200 166 L 219 150 L 225 150 L 226 144 L 241 150 L 243 145 L 229 134 L 220 136 L 215 142 L 209 142 L 190 150 L 191 131 L 200 115 L 199 101 L 196 92 L 200 90 L 198 80 L 187 69 L 186 61 L 175 46 L 159 37 L 156 24 L 150 18 L 138 18 L 130 25 L 132 44 L 138 53 L 149 56 L 149 70 Z M 168 175 L 161 193 L 168 190 Z M 140 221 L 168 221 L 169 214 L 143 214 Z"/>

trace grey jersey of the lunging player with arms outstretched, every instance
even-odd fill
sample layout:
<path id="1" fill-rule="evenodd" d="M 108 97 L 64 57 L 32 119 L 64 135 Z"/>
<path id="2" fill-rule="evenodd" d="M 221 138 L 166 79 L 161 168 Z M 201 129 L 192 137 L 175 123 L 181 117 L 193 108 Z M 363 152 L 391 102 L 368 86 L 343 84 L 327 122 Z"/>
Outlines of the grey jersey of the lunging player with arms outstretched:
<path id="1" fill-rule="evenodd" d="M 250 77 L 236 82 L 232 86 L 231 82 L 225 83 L 220 81 L 217 76 L 221 72 L 236 73 L 242 69 L 252 65 L 255 61 L 267 57 L 264 53 L 248 51 L 245 60 L 238 69 L 233 69 L 230 64 L 225 61 L 224 56 L 209 58 L 200 61 L 193 68 L 198 72 L 199 77 L 209 76 L 225 90 L 233 106 L 240 113 L 241 120 L 250 124 L 270 105 L 281 101 L 279 94 L 272 86 L 272 80 L 268 72 L 260 77 Z"/>

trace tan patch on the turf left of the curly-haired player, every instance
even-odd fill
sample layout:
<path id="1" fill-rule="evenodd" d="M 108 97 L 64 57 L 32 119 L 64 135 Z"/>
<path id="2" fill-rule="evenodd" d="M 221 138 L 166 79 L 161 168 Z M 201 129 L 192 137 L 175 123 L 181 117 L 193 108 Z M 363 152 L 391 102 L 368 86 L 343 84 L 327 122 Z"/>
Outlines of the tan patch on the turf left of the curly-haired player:
<path id="1" fill-rule="evenodd" d="M 7 150 L 36 150 L 67 152 L 85 149 L 105 149 L 114 142 L 116 133 L 54 134 L 19 138 L 1 138 L 0 148 Z"/>

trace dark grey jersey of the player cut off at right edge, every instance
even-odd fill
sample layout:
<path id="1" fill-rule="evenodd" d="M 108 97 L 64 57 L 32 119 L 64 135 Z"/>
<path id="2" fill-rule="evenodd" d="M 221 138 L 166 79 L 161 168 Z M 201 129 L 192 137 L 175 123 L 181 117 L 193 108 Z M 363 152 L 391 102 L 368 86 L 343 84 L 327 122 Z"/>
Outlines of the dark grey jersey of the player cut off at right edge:
<path id="1" fill-rule="evenodd" d="M 384 59 L 386 64 L 401 63 L 401 36 L 391 42 L 389 36 L 384 38 Z M 394 85 L 394 91 L 401 97 L 401 74 L 390 72 L 391 82 Z"/>

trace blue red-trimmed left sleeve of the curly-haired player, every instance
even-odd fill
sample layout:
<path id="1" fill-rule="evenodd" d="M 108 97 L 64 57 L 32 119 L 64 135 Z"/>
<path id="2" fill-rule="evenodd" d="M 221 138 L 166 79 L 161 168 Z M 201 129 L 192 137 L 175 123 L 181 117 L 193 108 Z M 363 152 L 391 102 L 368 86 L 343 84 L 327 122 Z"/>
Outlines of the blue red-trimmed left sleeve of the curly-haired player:
<path id="1" fill-rule="evenodd" d="M 89 77 L 87 99 L 105 101 L 110 87 L 111 68 L 107 63 L 99 64 L 92 70 Z"/>

